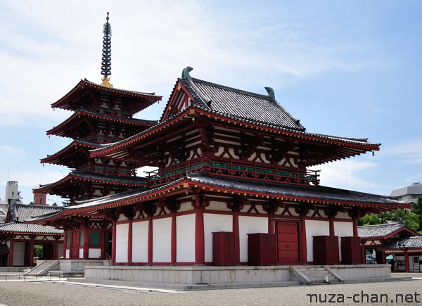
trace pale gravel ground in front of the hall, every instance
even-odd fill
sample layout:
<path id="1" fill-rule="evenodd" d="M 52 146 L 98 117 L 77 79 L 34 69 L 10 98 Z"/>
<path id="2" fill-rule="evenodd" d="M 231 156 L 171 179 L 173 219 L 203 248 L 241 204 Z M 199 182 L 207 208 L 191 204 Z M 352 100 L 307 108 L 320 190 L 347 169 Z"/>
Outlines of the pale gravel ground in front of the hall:
<path id="1" fill-rule="evenodd" d="M 362 291 L 369 294 L 362 296 Z M 104 288 L 87 288 L 49 282 L 0 281 L 1 305 L 311 305 L 307 294 L 322 294 L 331 298 L 331 305 L 385 305 L 371 302 L 371 294 L 388 294 L 389 305 L 418 305 L 422 302 L 422 280 L 386 283 L 356 283 L 343 285 L 295 286 L 283 288 L 250 288 L 180 293 L 135 293 Z M 409 295 L 408 302 L 392 302 L 399 293 Z M 415 293 L 416 300 L 415 300 Z M 344 295 L 344 302 L 341 296 Z M 347 299 L 353 296 L 359 302 Z M 410 297 L 412 300 L 409 300 Z M 340 300 L 338 300 L 340 298 Z M 363 300 L 362 300 L 363 299 Z M 379 300 L 379 297 L 378 297 Z M 419 302 L 417 302 L 419 301 Z M 328 300 L 327 300 L 328 302 Z"/>

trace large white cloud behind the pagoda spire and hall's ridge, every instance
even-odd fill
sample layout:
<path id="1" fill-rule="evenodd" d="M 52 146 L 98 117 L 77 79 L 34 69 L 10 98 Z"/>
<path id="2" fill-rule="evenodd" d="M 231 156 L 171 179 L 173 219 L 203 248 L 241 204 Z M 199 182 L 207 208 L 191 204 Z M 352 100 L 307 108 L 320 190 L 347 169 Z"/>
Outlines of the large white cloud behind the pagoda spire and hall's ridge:
<path id="1" fill-rule="evenodd" d="M 6 1 L 0 27 L 2 125 L 60 122 L 65 115 L 53 113 L 50 104 L 81 78 L 100 81 L 106 11 L 113 27 L 111 83 L 117 88 L 166 95 L 186 65 L 196 77 L 245 89 L 248 82 L 283 86 L 292 78 L 373 65 L 350 56 L 369 46 L 336 42 L 330 39 L 338 35 L 335 29 L 291 20 L 272 25 L 264 10 L 254 11 L 254 18 L 239 11 L 234 22 L 201 1 Z"/>

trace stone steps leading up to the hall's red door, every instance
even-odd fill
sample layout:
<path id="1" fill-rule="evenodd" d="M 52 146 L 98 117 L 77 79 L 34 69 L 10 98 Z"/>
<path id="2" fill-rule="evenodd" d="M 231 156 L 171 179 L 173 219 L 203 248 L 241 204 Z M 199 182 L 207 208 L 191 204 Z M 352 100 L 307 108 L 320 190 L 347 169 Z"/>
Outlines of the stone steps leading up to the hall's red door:
<path id="1" fill-rule="evenodd" d="M 343 279 L 327 266 L 291 266 L 290 272 L 302 283 L 308 285 L 343 282 Z"/>

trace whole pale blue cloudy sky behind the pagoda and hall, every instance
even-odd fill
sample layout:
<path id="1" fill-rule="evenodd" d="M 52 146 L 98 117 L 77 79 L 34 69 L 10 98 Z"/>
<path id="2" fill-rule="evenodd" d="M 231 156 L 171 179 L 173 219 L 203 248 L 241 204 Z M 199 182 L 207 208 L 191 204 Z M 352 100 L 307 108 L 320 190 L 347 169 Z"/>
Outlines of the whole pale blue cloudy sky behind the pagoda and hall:
<path id="1" fill-rule="evenodd" d="M 187 65 L 193 77 L 265 94 L 308 132 L 369 138 L 366 154 L 321 169 L 321 184 L 369 193 L 422 181 L 421 1 L 0 2 L 0 197 L 68 170 L 41 165 L 70 139 L 46 130 L 71 115 L 51 109 L 79 79 L 101 82 L 102 25 L 113 28 L 111 83 L 155 91 L 158 119 Z M 49 196 L 48 202 L 60 198 Z"/>

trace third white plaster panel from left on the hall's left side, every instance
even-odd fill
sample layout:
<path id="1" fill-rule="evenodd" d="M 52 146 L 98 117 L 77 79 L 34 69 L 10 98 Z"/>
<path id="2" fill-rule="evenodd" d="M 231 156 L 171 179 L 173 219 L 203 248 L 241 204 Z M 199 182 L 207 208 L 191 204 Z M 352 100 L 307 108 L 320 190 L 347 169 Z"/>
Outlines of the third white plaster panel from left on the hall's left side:
<path id="1" fill-rule="evenodd" d="M 172 218 L 153 220 L 153 262 L 172 260 Z"/>

